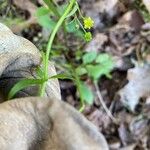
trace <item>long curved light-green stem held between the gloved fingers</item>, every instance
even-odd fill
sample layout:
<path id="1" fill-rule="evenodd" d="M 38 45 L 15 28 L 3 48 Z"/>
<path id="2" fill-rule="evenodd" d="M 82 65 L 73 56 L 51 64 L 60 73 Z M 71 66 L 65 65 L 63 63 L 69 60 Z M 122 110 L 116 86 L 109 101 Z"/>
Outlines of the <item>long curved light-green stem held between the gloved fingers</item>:
<path id="1" fill-rule="evenodd" d="M 54 30 L 52 31 L 52 34 L 51 34 L 50 38 L 49 38 L 49 42 L 48 42 L 47 50 L 46 50 L 46 56 L 45 56 L 45 63 L 44 63 L 44 79 L 46 79 L 46 80 L 48 80 L 48 75 L 49 75 L 48 74 L 48 61 L 49 61 L 49 55 L 50 55 L 50 52 L 51 52 L 51 48 L 52 48 L 52 44 L 53 44 L 54 38 L 55 38 L 56 33 L 58 32 L 60 26 L 63 24 L 63 21 L 65 20 L 66 16 L 71 11 L 71 9 L 72 9 L 72 7 L 73 7 L 75 2 L 76 2 L 76 0 L 71 0 L 70 1 L 70 4 L 68 5 L 68 7 L 65 10 L 64 14 L 58 20 Z M 45 87 L 46 87 L 46 82 L 44 82 L 42 84 L 41 92 L 40 92 L 41 96 L 44 95 Z"/>

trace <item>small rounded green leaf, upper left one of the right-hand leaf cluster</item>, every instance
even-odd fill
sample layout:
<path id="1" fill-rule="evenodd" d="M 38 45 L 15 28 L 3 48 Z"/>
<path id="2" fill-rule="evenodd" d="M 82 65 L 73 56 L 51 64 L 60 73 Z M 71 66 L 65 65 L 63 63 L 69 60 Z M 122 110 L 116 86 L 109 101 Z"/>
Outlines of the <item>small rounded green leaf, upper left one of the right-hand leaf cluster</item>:
<path id="1" fill-rule="evenodd" d="M 96 59 L 96 56 L 97 56 L 97 52 L 95 51 L 86 53 L 85 55 L 83 55 L 82 58 L 83 63 L 84 64 L 92 63 Z"/>

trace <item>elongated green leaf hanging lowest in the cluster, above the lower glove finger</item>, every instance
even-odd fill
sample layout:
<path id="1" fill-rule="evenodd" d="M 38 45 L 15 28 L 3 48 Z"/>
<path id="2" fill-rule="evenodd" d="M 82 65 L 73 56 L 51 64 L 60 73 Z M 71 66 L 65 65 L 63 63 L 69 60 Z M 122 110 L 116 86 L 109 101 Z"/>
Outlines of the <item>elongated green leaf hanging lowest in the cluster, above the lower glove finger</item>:
<path id="1" fill-rule="evenodd" d="M 94 95 L 92 91 L 88 88 L 86 84 L 83 82 L 79 82 L 80 84 L 78 85 L 78 90 L 80 93 L 81 98 L 88 104 L 92 104 L 94 100 Z"/>

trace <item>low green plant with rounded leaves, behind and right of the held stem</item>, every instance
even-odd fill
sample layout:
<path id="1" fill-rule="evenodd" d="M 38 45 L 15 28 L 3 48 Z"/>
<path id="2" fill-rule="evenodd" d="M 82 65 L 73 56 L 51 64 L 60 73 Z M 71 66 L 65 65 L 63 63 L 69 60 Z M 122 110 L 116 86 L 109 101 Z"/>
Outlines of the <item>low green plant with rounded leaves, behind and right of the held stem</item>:
<path id="1" fill-rule="evenodd" d="M 95 51 L 87 52 L 81 55 L 81 63 L 70 66 L 70 75 L 74 75 L 74 82 L 80 94 L 82 107 L 80 111 L 84 109 L 85 102 L 88 104 L 93 103 L 94 95 L 88 86 L 81 80 L 82 76 L 90 77 L 94 84 L 97 84 L 98 79 L 106 75 L 111 77 L 110 71 L 114 67 L 114 62 L 109 54 L 98 54 Z M 76 68 L 75 68 L 76 66 Z"/>

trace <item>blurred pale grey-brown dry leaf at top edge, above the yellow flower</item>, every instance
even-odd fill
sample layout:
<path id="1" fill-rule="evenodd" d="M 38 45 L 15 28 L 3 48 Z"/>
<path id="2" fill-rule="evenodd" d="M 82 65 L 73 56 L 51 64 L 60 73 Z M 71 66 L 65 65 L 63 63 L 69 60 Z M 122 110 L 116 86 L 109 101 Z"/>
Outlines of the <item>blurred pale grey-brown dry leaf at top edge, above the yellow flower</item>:
<path id="1" fill-rule="evenodd" d="M 119 0 L 80 0 L 81 8 L 86 16 L 94 20 L 94 28 L 107 26 L 113 18 L 117 18 L 125 9 Z"/>

